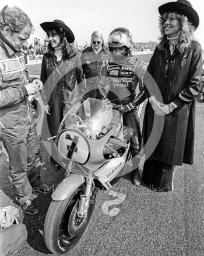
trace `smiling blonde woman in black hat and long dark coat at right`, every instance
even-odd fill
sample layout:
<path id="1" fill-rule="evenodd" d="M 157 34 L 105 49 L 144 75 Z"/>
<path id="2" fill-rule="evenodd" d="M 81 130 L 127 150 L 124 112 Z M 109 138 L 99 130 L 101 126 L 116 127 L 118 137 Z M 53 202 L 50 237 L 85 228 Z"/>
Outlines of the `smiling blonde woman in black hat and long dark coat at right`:
<path id="1" fill-rule="evenodd" d="M 151 145 L 153 153 L 145 152 L 150 157 L 145 162 L 142 178 L 154 191 L 171 191 L 174 166 L 193 164 L 195 97 L 201 88 L 201 45 L 194 39 L 198 13 L 187 0 L 161 5 L 159 13 L 160 43 L 147 68 L 156 83 L 148 88 L 143 143 L 150 139 L 155 120 L 163 130 L 158 143 Z"/>

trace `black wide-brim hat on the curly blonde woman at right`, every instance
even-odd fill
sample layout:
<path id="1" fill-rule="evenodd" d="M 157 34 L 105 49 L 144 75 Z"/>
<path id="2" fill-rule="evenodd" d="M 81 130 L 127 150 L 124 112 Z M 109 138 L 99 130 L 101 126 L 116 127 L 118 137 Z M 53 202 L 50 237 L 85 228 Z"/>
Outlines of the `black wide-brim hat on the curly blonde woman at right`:
<path id="1" fill-rule="evenodd" d="M 159 13 L 163 15 L 164 12 L 177 12 L 187 16 L 192 25 L 197 28 L 199 26 L 198 13 L 192 8 L 192 5 L 187 0 L 178 0 L 177 2 L 168 2 L 167 4 L 159 6 Z"/>

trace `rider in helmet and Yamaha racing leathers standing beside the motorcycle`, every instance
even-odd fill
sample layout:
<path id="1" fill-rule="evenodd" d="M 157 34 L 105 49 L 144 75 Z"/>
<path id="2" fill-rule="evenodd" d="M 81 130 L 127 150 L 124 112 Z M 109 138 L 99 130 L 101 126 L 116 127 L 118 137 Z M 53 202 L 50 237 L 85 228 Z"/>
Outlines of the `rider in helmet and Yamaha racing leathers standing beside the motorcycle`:
<path id="1" fill-rule="evenodd" d="M 108 38 L 110 58 L 103 62 L 100 71 L 99 89 L 105 103 L 111 101 L 114 108 L 123 113 L 124 125 L 133 129 L 131 153 L 133 157 L 132 182 L 140 184 L 139 160 L 135 157 L 140 150 L 140 123 L 136 106 L 146 98 L 143 75 L 146 64 L 132 56 L 132 36 L 128 29 L 119 27 L 112 30 Z M 105 88 L 108 85 L 108 93 Z M 139 85 L 139 94 L 136 88 Z"/>

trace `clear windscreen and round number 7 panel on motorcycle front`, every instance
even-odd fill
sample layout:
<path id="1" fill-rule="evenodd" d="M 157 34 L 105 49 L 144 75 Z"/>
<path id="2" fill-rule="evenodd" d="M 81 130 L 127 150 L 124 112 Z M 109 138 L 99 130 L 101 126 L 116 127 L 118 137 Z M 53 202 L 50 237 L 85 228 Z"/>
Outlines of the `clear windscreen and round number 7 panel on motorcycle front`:
<path id="1" fill-rule="evenodd" d="M 90 157 L 90 140 L 100 140 L 112 129 L 113 116 L 112 106 L 99 99 L 78 102 L 59 126 L 56 139 L 59 155 L 85 164 Z"/>

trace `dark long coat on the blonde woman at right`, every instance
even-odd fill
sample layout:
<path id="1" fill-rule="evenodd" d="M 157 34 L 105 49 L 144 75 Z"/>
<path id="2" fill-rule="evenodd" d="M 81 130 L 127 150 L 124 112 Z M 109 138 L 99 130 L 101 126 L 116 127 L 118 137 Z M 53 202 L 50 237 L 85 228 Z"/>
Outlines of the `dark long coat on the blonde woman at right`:
<path id="1" fill-rule="evenodd" d="M 143 144 L 148 139 L 152 141 L 150 146 L 145 147 L 147 157 L 151 155 L 153 160 L 170 165 L 193 164 L 195 97 L 201 89 L 201 62 L 201 46 L 196 41 L 182 54 L 177 50 L 171 56 L 168 44 L 164 50 L 157 47 L 154 51 L 147 71 L 156 81 L 164 104 L 174 102 L 178 108 L 169 115 L 157 116 L 151 104 L 147 103 Z M 153 87 L 148 88 L 150 95 L 156 91 Z M 151 134 L 153 122 L 156 124 L 156 133 L 154 129 Z"/>

